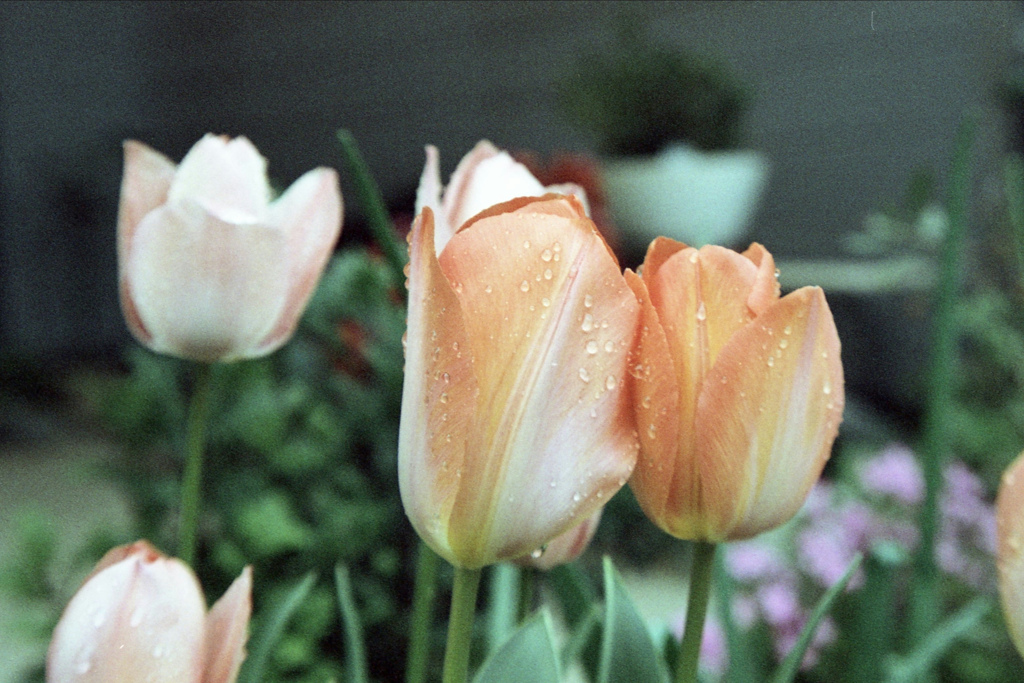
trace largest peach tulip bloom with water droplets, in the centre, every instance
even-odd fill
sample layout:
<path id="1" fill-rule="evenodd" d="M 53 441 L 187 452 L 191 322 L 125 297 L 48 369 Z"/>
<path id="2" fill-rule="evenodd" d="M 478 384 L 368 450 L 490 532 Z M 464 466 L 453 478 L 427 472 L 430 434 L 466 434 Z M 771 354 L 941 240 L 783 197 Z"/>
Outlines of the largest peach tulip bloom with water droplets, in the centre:
<path id="1" fill-rule="evenodd" d="M 490 207 L 439 252 L 434 217 L 410 233 L 398 482 L 424 541 L 473 569 L 543 547 L 626 482 L 638 306 L 574 197 Z"/>

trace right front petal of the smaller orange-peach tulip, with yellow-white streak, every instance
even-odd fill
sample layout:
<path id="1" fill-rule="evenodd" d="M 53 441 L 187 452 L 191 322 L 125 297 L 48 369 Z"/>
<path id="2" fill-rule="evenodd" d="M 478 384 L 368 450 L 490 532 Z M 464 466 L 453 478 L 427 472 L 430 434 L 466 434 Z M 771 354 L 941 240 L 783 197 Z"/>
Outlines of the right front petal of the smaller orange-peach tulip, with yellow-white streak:
<path id="1" fill-rule="evenodd" d="M 793 292 L 738 331 L 697 404 L 705 538 L 750 538 L 796 514 L 843 403 L 839 336 L 820 289 Z"/>

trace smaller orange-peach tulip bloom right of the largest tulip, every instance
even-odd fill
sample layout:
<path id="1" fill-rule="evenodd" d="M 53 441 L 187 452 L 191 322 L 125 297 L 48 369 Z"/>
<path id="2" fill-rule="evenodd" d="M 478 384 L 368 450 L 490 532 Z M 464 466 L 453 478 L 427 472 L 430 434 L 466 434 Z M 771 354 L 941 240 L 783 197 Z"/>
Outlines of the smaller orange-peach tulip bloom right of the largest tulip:
<path id="1" fill-rule="evenodd" d="M 761 245 L 651 243 L 641 274 L 631 486 L 680 539 L 753 537 L 788 520 L 828 459 L 843 367 L 821 290 L 779 298 Z"/>

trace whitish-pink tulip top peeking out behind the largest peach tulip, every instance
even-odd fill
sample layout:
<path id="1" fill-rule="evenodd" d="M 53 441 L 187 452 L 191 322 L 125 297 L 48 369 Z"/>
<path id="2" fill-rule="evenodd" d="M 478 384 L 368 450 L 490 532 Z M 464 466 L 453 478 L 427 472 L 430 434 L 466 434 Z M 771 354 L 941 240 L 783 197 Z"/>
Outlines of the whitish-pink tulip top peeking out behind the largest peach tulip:
<path id="1" fill-rule="evenodd" d="M 486 140 L 477 142 L 462 158 L 442 193 L 437 147 L 427 145 L 426 152 L 427 163 L 416 195 L 416 213 L 419 215 L 424 207 L 433 211 L 434 248 L 438 254 L 460 225 L 480 211 L 516 197 L 574 195 L 587 207 L 587 196 L 580 185 L 562 183 L 545 187 L 525 166 Z M 590 214 L 589 208 L 587 213 Z"/>

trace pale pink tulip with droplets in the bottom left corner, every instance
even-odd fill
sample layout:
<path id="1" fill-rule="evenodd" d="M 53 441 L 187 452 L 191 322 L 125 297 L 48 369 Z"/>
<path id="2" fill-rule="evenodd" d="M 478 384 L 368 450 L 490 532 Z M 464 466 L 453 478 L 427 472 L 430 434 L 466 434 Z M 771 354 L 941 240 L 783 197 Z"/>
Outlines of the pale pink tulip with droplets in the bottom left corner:
<path id="1" fill-rule="evenodd" d="M 207 613 L 196 575 L 144 541 L 110 551 L 53 632 L 47 683 L 232 683 L 252 611 L 246 567 Z"/>

